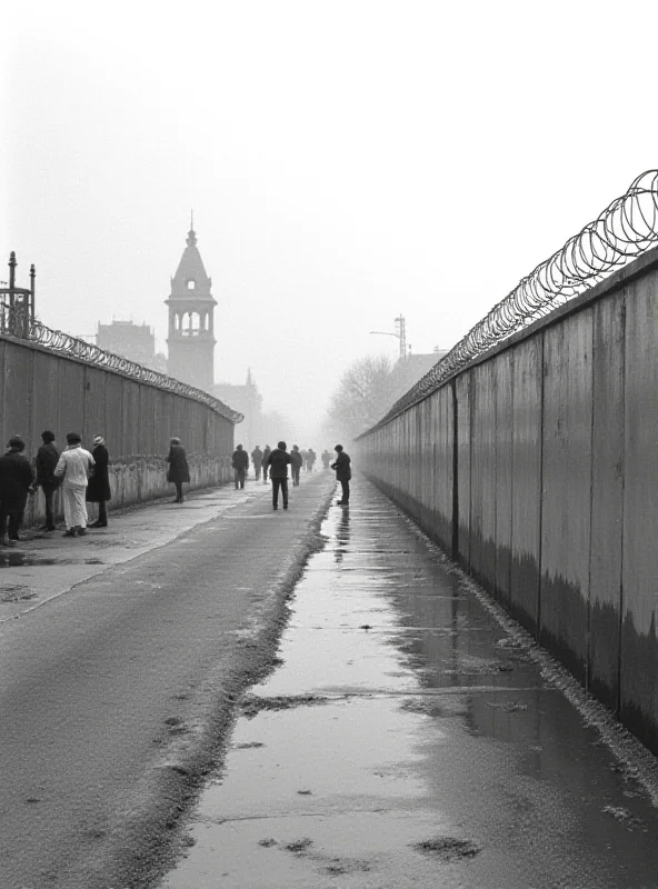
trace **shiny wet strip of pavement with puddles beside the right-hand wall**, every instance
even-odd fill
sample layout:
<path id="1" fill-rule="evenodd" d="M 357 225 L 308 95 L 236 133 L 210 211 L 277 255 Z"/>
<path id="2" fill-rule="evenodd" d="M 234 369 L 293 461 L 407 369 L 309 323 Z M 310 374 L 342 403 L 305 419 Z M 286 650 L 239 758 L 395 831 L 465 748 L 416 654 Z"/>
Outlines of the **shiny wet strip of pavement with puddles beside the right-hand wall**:
<path id="1" fill-rule="evenodd" d="M 655 761 L 367 482 L 322 532 L 162 889 L 658 887 Z"/>

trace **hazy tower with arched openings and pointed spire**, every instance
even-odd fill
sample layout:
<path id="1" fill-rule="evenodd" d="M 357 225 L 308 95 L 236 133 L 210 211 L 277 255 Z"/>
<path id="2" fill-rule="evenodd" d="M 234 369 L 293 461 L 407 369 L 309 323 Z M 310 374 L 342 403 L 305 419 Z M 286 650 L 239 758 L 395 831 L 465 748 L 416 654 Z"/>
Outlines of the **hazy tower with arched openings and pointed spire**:
<path id="1" fill-rule="evenodd" d="M 211 284 L 197 247 L 192 217 L 187 247 L 171 279 L 171 296 L 166 300 L 169 306 L 167 371 L 170 377 L 206 392 L 212 392 L 215 384 L 213 312 L 217 301 L 210 293 Z"/>

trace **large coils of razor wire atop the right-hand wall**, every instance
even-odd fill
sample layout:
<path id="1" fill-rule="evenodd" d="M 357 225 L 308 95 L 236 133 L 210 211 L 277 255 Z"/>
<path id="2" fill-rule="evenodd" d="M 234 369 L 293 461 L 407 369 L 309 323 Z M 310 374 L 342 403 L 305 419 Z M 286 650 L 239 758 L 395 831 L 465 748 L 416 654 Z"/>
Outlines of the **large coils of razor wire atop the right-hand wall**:
<path id="1" fill-rule="evenodd" d="M 658 170 L 647 170 L 541 262 L 362 436 L 436 391 L 449 377 L 658 242 Z"/>

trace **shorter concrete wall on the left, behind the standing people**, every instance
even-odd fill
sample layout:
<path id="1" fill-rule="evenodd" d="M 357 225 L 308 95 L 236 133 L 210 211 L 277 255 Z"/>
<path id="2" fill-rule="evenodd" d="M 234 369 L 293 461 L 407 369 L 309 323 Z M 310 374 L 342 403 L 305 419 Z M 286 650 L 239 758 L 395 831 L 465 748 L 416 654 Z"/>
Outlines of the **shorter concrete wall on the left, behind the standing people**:
<path id="1" fill-rule="evenodd" d="M 166 456 L 178 436 L 188 453 L 190 487 L 232 477 L 233 424 L 186 396 L 102 370 L 32 343 L 0 337 L 0 444 L 12 434 L 32 458 L 50 429 L 60 450 L 66 433 L 80 432 L 83 447 L 102 434 L 110 452 L 116 509 L 170 495 Z M 42 521 L 43 498 L 31 499 L 26 523 Z"/>

